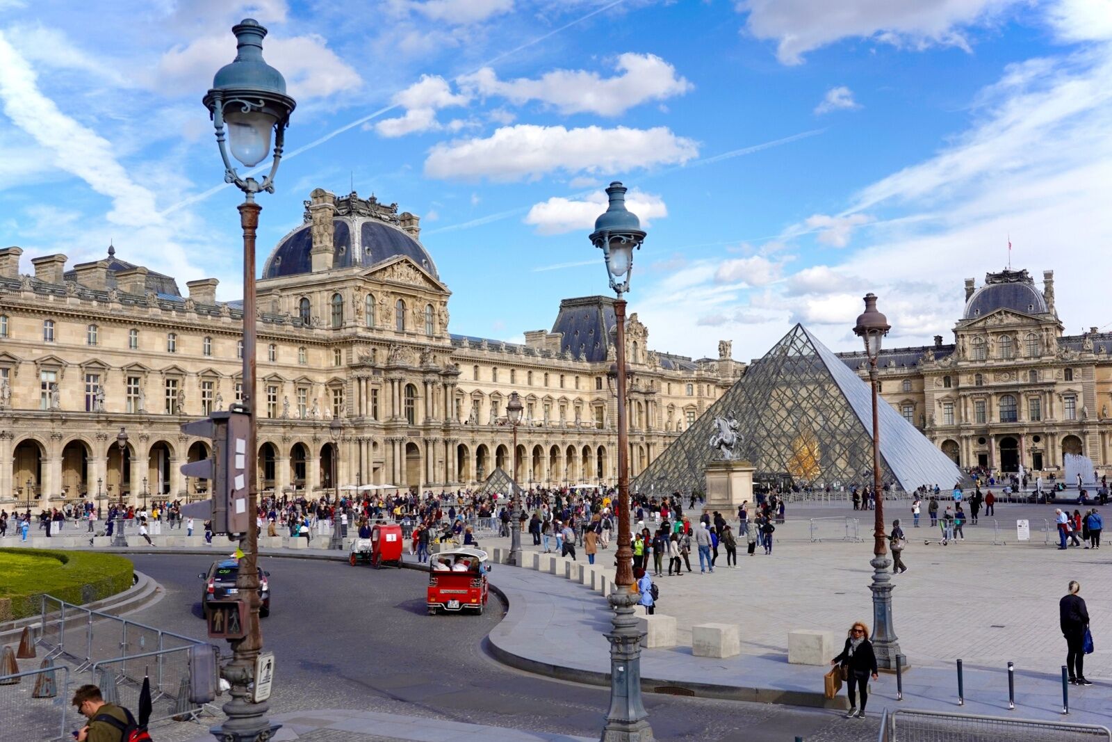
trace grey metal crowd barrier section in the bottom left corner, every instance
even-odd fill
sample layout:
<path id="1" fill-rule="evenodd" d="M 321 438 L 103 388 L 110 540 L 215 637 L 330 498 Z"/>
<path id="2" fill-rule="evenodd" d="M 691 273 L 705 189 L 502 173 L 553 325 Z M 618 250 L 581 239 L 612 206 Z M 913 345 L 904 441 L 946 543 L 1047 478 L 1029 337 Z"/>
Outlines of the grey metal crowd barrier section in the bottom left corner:
<path id="1" fill-rule="evenodd" d="M 44 673 L 54 673 L 53 695 L 34 698 Z M 72 740 L 66 729 L 69 694 L 69 667 L 64 665 L 0 675 L 0 739 Z"/>

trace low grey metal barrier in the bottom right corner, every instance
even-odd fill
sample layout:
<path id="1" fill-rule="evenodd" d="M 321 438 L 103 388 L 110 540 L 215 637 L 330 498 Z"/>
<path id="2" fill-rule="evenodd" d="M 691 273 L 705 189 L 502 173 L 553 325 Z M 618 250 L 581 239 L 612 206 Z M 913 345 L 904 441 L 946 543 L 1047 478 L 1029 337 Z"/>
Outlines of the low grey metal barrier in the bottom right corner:
<path id="1" fill-rule="evenodd" d="M 943 711 L 898 709 L 885 712 L 880 742 L 1112 742 L 1112 732 L 1096 724 L 980 716 Z"/>

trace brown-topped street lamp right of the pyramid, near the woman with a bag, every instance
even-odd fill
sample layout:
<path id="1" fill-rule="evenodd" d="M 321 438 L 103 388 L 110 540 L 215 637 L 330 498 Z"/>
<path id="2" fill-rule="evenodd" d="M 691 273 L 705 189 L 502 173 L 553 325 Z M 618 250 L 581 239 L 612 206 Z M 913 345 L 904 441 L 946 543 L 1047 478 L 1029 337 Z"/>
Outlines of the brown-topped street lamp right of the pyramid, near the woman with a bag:
<path id="1" fill-rule="evenodd" d="M 900 664 L 907 666 L 906 659 L 900 653 L 900 642 L 892 625 L 892 575 L 888 567 L 887 536 L 884 533 L 884 492 L 881 488 L 881 425 L 878 417 L 878 400 L 876 396 L 880 386 L 876 379 L 876 360 L 881 355 L 881 339 L 888 334 L 892 326 L 887 318 L 876 309 L 876 295 L 865 295 L 865 311 L 857 317 L 854 334 L 865 342 L 865 355 L 868 356 L 868 379 L 873 392 L 873 499 L 876 509 L 873 512 L 873 650 L 876 653 L 876 664 L 887 670 L 895 670 L 896 657 Z"/>

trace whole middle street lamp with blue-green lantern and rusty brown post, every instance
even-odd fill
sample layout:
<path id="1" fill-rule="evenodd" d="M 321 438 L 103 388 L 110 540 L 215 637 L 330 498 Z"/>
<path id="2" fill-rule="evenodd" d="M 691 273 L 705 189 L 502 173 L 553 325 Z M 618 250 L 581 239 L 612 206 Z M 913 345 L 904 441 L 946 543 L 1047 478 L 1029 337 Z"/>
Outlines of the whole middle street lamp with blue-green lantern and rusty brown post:
<path id="1" fill-rule="evenodd" d="M 617 337 L 618 406 L 618 553 L 614 592 L 607 598 L 614 609 L 614 627 L 606 634 L 610 642 L 610 709 L 606 713 L 603 742 L 649 742 L 653 729 L 641 699 L 641 639 L 633 606 L 637 587 L 633 577 L 633 547 L 629 540 L 629 461 L 626 429 L 625 309 L 622 298 L 629 290 L 633 251 L 641 247 L 645 231 L 637 215 L 625 206 L 626 188 L 612 182 L 606 189 L 609 207 L 595 220 L 590 244 L 602 248 L 610 288 L 617 294 L 614 317 Z"/>

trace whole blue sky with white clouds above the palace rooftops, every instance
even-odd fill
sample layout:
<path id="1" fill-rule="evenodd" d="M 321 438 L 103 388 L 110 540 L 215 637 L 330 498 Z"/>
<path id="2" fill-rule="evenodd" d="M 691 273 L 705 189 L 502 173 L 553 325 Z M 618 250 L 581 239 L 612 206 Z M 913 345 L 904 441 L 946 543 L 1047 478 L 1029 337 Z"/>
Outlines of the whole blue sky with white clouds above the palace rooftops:
<path id="1" fill-rule="evenodd" d="M 612 179 L 647 222 L 651 345 L 836 349 L 873 290 L 893 345 L 951 337 L 962 279 L 1054 269 L 1112 324 L 1112 0 L 0 0 L 0 244 L 120 257 L 238 298 L 234 188 L 200 103 L 270 30 L 298 100 L 259 266 L 312 188 L 423 218 L 453 329 L 548 328 L 607 293 Z"/>

